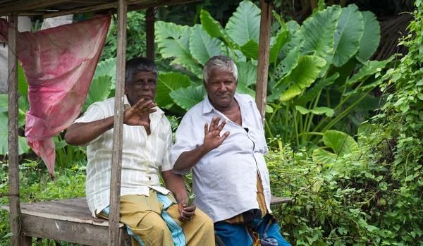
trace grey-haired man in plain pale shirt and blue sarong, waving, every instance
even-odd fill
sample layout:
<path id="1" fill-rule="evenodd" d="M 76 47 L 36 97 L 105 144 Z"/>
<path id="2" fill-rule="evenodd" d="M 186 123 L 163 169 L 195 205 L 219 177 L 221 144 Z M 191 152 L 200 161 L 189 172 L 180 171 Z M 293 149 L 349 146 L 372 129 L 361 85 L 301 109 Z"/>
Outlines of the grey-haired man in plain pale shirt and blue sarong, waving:
<path id="1" fill-rule="evenodd" d="M 214 222 L 216 245 L 290 245 L 270 210 L 262 118 L 252 97 L 235 92 L 235 63 L 212 57 L 203 83 L 207 96 L 176 131 L 173 172 L 192 169 L 197 206 Z"/>

